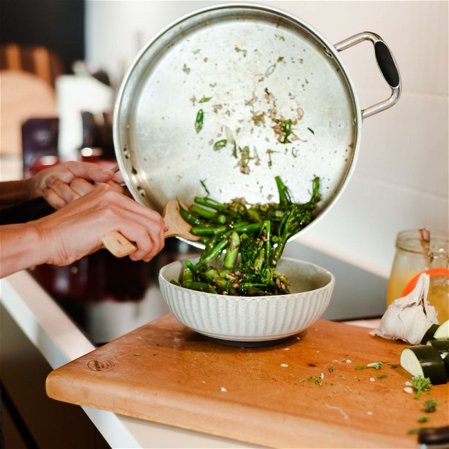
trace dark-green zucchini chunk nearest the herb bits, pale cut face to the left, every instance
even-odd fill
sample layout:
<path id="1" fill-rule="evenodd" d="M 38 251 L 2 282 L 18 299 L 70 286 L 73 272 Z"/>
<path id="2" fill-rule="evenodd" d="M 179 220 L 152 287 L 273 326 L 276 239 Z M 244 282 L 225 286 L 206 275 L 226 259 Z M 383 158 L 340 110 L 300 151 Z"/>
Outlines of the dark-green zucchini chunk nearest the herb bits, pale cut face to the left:
<path id="1" fill-rule="evenodd" d="M 399 357 L 401 367 L 412 376 L 428 377 L 432 385 L 446 383 L 446 367 L 432 345 L 404 347 Z"/>

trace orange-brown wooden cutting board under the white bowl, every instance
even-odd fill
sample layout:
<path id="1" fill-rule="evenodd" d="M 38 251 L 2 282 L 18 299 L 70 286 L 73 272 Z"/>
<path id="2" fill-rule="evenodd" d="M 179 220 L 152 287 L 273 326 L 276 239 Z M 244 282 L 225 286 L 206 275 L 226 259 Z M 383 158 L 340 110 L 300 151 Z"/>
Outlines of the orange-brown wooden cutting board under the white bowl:
<path id="1" fill-rule="evenodd" d="M 414 399 L 405 346 L 318 321 L 271 347 L 208 341 L 166 315 L 51 372 L 49 397 L 262 446 L 412 448 L 409 430 L 448 424 L 448 385 Z M 383 376 L 383 377 L 380 377 Z M 433 398 L 434 413 L 423 404 Z M 427 423 L 419 423 L 421 415 Z"/>

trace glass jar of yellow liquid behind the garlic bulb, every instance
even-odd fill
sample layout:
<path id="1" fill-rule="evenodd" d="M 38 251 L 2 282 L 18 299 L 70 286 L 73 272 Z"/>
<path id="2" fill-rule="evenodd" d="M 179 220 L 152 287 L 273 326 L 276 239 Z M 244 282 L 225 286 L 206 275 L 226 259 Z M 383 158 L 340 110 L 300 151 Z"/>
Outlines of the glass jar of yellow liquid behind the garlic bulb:
<path id="1" fill-rule="evenodd" d="M 428 301 L 438 312 L 438 322 L 449 318 L 449 238 L 428 229 L 401 231 L 396 238 L 387 307 L 412 291 L 419 275 L 430 276 Z"/>

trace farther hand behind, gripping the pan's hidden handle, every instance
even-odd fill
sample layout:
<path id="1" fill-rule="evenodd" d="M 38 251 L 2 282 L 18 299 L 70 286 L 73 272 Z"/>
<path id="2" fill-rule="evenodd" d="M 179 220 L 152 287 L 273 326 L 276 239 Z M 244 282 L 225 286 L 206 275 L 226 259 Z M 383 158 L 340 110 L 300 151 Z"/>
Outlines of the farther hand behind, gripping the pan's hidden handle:
<path id="1" fill-rule="evenodd" d="M 43 196 L 50 206 L 61 209 L 92 191 L 98 183 L 122 192 L 122 182 L 120 172 L 113 173 L 91 162 L 69 161 L 44 169 L 30 178 L 30 197 Z"/>

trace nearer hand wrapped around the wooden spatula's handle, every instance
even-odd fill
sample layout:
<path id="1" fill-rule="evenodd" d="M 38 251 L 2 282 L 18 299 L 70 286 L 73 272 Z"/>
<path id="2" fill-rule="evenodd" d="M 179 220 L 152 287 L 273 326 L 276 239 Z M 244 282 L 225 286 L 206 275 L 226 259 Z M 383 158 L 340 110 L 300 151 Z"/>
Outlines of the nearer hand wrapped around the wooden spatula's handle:
<path id="1" fill-rule="evenodd" d="M 46 263 L 54 265 L 68 265 L 102 248 L 102 238 L 109 231 L 120 231 L 135 242 L 137 251 L 129 256 L 131 260 L 148 262 L 164 247 L 167 230 L 159 213 L 106 184 L 35 221 L 34 226 L 49 250 Z"/>

